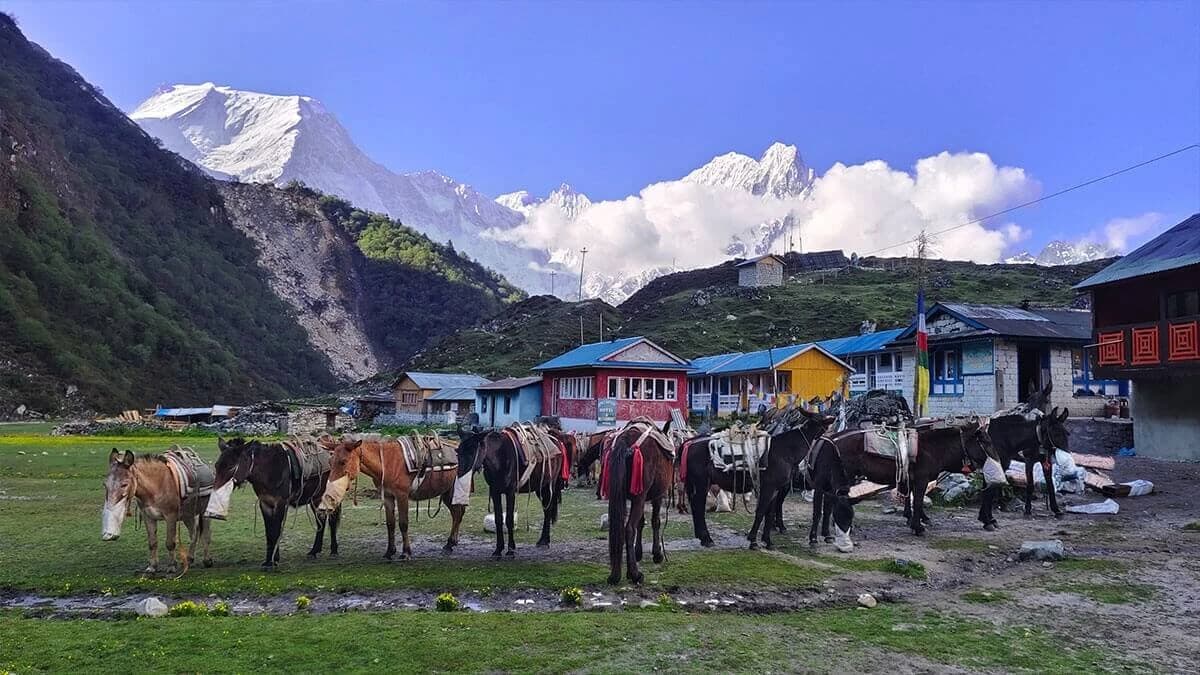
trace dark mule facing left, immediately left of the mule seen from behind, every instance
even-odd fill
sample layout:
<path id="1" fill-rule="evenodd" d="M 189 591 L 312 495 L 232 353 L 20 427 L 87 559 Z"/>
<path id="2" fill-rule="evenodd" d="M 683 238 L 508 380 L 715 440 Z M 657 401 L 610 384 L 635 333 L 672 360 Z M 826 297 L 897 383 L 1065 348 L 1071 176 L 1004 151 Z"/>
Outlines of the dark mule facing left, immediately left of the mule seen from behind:
<path id="1" fill-rule="evenodd" d="M 546 431 L 562 443 L 564 452 L 548 462 L 535 465 L 529 479 L 520 486 L 517 485 L 521 480 L 518 450 L 509 434 L 504 431 L 470 434 L 458 444 L 460 476 L 482 468 L 484 478 L 487 480 L 488 498 L 492 502 L 492 513 L 496 514 L 496 550 L 492 551 L 492 557 L 500 557 L 502 552 L 509 557 L 516 555 L 517 545 L 512 528 L 518 492 L 535 494 L 541 501 L 541 537 L 538 538 L 536 545 L 538 548 L 550 545 L 550 526 L 558 521 L 558 506 L 563 501 L 563 489 L 566 488 L 575 440 L 568 434 Z M 505 531 L 509 536 L 508 550 L 504 549 Z"/>

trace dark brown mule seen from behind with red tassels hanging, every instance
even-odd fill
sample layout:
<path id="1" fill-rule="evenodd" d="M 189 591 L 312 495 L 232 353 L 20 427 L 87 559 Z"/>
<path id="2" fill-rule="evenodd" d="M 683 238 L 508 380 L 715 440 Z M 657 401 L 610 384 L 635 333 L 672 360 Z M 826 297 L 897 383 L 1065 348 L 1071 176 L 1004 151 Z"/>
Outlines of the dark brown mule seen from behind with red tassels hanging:
<path id="1" fill-rule="evenodd" d="M 674 448 L 653 432 L 652 423 L 630 423 L 618 431 L 600 478 L 608 494 L 608 583 L 620 581 L 620 558 L 625 556 L 625 575 L 641 584 L 642 531 L 646 528 L 646 502 L 653 506 L 654 562 L 662 562 L 662 502 L 674 480 Z M 629 502 L 626 504 L 625 502 Z"/>

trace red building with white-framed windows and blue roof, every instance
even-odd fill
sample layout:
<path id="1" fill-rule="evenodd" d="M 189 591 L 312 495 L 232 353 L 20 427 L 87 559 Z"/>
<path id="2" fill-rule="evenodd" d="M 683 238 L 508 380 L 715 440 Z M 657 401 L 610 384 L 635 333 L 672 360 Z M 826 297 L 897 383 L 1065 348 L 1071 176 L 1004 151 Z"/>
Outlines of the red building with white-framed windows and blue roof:
<path id="1" fill-rule="evenodd" d="M 581 345 L 534 368 L 541 374 L 541 410 L 563 429 L 611 429 L 636 417 L 659 424 L 686 414 L 688 360 L 646 338 Z"/>

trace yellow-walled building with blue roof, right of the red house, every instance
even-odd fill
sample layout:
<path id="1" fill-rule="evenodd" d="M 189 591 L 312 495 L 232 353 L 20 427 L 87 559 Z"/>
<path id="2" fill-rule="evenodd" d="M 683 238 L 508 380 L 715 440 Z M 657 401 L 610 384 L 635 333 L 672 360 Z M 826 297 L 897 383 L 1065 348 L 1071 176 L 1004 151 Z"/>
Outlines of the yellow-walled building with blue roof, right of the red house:
<path id="1" fill-rule="evenodd" d="M 700 357 L 688 372 L 689 407 L 724 416 L 826 399 L 846 394 L 852 374 L 850 364 L 811 342 Z"/>

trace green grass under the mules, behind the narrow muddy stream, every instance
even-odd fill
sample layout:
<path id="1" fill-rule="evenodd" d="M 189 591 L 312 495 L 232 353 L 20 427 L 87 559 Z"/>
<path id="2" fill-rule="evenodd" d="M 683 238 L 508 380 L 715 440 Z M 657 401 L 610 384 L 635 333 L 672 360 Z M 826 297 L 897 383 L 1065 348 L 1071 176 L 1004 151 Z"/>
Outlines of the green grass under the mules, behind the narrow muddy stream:
<path id="1" fill-rule="evenodd" d="M 589 543 L 598 551 L 592 557 L 522 560 L 521 556 L 533 552 L 540 524 L 536 501 L 522 498 L 516 528 L 518 557 L 515 561 L 493 561 L 479 549 L 443 556 L 440 546 L 449 532 L 449 514 L 443 510 L 431 519 L 426 506 L 422 506 L 420 516 L 410 520 L 415 560 L 386 562 L 382 557 L 386 539 L 378 501 L 360 498 L 358 507 L 349 501 L 346 503 L 338 558 L 323 556 L 316 561 L 305 560 L 313 528 L 308 513 L 296 510 L 289 515 L 284 530 L 283 565 L 280 572 L 266 574 L 258 567 L 264 549 L 262 519 L 254 506 L 253 491 L 245 488 L 234 492 L 229 520 L 214 524 L 214 568 L 193 567 L 179 580 L 144 577 L 140 569 L 146 565 L 145 533 L 137 527 L 136 519 L 126 521 L 120 539 L 100 540 L 100 509 L 104 498 L 103 476 L 108 453 L 113 447 L 139 453 L 161 452 L 173 442 L 172 437 L 0 437 L 0 509 L 4 512 L 4 518 L 0 518 L 0 542 L 4 543 L 0 545 L 0 589 L 49 595 L 107 590 L 174 596 L 397 587 L 469 591 L 484 586 L 500 590 L 601 585 L 608 575 L 607 556 L 600 543 L 605 532 L 598 526 L 606 507 L 584 489 L 565 494 L 559 522 L 553 528 L 552 546 L 570 549 Z M 188 444 L 203 456 L 216 456 L 214 440 L 200 438 Z M 368 486 L 368 480 L 360 483 L 364 494 Z M 490 551 L 494 536 L 482 531 L 485 496 L 486 484 L 480 479 L 473 508 L 468 509 L 463 524 L 463 539 L 486 545 Z M 536 514 L 529 528 L 526 527 L 527 513 Z M 749 521 L 750 516 L 742 512 L 710 516 L 713 526 L 738 531 L 749 528 Z M 180 531 L 184 532 L 182 528 Z M 690 520 L 677 514 L 671 514 L 664 532 L 668 540 L 692 538 Z M 160 540 L 162 538 L 160 532 Z M 160 545 L 161 562 L 166 562 L 166 546 Z M 818 566 L 749 550 L 672 552 L 664 565 L 653 565 L 647 557 L 643 572 L 647 584 L 667 589 L 806 589 L 832 574 Z"/>

